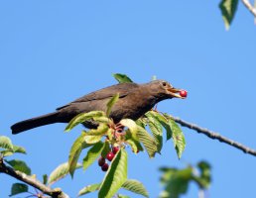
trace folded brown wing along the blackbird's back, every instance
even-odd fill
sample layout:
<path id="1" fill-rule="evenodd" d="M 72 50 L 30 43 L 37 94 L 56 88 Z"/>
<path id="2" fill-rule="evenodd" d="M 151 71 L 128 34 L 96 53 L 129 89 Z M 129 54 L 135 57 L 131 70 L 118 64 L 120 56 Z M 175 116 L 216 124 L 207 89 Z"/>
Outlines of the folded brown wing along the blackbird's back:
<path id="1" fill-rule="evenodd" d="M 133 89 L 139 87 L 138 84 L 128 82 L 128 83 L 119 83 L 116 85 L 112 85 L 97 91 L 94 91 L 92 93 L 89 93 L 87 95 L 84 95 L 66 105 L 63 107 L 57 108 L 57 110 L 63 109 L 66 106 L 69 106 L 71 104 L 80 103 L 80 102 L 88 102 L 92 100 L 102 100 L 106 98 L 113 97 L 116 93 L 119 93 L 119 98 L 125 97 L 127 94 L 129 94 Z"/>

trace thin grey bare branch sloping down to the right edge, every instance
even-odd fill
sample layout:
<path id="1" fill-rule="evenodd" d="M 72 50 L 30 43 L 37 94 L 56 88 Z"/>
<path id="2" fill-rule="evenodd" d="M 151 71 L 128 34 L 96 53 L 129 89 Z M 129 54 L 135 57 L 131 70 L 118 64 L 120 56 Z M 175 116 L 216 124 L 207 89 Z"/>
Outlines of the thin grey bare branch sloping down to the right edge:
<path id="1" fill-rule="evenodd" d="M 243 146 L 242 144 L 240 143 L 237 143 L 237 142 L 234 142 L 230 139 L 227 139 L 225 137 L 222 137 L 220 136 L 219 134 L 217 133 L 214 133 L 212 131 L 209 131 L 207 129 L 203 129 L 203 128 L 200 128 L 196 125 L 193 125 L 192 123 L 188 123 L 180 118 L 177 118 L 177 117 L 172 117 L 177 123 L 181 124 L 182 126 L 184 127 L 187 127 L 189 129 L 192 129 L 194 131 L 196 131 L 197 133 L 199 134 L 204 134 L 205 136 L 207 136 L 208 138 L 210 139 L 215 139 L 215 140 L 218 140 L 219 142 L 221 143 L 225 143 L 229 146 L 232 146 L 234 148 L 238 148 L 238 149 L 241 149 L 243 152 L 245 153 L 249 153 L 249 154 L 252 154 L 254 156 L 256 156 L 256 150 L 252 149 L 252 148 L 248 148 L 248 147 L 245 147 Z"/>

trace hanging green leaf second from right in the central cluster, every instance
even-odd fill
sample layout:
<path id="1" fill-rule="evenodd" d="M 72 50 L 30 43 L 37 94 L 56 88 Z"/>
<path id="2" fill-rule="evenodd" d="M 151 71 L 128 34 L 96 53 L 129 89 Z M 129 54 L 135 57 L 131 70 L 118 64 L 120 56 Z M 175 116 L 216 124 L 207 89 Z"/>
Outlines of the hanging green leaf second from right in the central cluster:
<path id="1" fill-rule="evenodd" d="M 146 113 L 146 117 L 148 118 L 148 124 L 150 127 L 150 130 L 155 137 L 158 152 L 161 151 L 163 147 L 163 128 L 161 123 L 158 121 L 157 117 L 155 117 L 154 114 L 150 112 Z"/>

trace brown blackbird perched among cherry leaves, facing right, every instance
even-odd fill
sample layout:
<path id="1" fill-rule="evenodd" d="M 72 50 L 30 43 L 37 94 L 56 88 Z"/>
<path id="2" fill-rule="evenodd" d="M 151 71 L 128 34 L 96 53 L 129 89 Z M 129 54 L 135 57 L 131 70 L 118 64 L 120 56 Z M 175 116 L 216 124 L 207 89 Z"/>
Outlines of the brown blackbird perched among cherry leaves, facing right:
<path id="1" fill-rule="evenodd" d="M 112 107 L 110 118 L 114 123 L 124 118 L 137 120 L 162 100 L 183 98 L 179 92 L 179 89 L 165 80 L 154 80 L 144 84 L 119 83 L 84 95 L 57 108 L 54 113 L 16 123 L 11 126 L 12 134 L 54 123 L 68 123 L 73 117 L 83 112 L 106 111 L 107 102 L 116 93 L 119 93 L 119 100 Z M 93 122 L 85 122 L 83 125 L 88 129 L 97 127 Z"/>

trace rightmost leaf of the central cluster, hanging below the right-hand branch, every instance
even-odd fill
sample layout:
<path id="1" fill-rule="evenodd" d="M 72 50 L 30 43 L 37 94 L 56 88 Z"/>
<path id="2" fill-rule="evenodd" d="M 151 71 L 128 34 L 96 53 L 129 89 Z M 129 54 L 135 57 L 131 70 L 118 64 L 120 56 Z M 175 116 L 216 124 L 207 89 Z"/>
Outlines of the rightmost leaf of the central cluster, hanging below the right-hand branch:
<path id="1" fill-rule="evenodd" d="M 182 157 L 182 153 L 186 147 L 186 141 L 185 141 L 185 136 L 179 125 L 173 120 L 170 119 L 170 126 L 172 129 L 172 135 L 173 135 L 173 141 L 174 141 L 174 146 L 176 148 L 176 152 L 178 154 L 178 157 Z"/>

